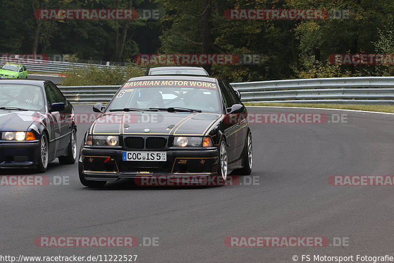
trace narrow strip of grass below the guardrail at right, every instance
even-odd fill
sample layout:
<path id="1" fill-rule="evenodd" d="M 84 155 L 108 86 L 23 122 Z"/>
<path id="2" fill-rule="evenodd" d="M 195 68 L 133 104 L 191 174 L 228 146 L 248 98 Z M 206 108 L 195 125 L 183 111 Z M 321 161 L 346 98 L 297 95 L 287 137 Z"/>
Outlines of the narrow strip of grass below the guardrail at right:
<path id="1" fill-rule="evenodd" d="M 246 106 L 271 106 L 271 107 L 304 107 L 304 108 L 324 108 L 339 110 L 356 110 L 379 113 L 394 113 L 392 105 L 363 105 L 363 104 L 317 104 L 317 103 L 244 103 Z"/>

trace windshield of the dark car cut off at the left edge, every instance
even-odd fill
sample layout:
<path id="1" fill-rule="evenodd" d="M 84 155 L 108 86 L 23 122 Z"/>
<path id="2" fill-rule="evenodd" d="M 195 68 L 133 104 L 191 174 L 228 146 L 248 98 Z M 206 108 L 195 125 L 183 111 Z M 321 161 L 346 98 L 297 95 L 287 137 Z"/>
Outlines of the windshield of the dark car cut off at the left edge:
<path id="1" fill-rule="evenodd" d="M 1 84 L 0 82 L 1 107 L 41 112 L 44 110 L 42 89 L 35 85 Z"/>

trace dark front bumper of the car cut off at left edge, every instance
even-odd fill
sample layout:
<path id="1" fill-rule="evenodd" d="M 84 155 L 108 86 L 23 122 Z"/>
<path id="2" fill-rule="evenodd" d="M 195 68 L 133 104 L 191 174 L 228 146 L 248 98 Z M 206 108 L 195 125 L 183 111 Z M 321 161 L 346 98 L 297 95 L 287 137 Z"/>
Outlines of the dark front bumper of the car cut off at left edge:
<path id="1" fill-rule="evenodd" d="M 32 143 L 0 143 L 0 167 L 30 167 L 38 163 L 39 141 Z"/>

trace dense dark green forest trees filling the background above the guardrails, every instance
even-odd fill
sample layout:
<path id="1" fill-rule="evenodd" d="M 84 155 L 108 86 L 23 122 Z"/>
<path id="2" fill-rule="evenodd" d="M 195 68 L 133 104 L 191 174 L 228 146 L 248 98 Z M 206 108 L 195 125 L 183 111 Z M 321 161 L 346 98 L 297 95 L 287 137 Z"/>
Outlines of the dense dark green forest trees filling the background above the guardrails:
<path id="1" fill-rule="evenodd" d="M 259 54 L 258 65 L 205 65 L 231 82 L 392 75 L 393 65 L 330 65 L 330 54 L 394 53 L 392 0 L 13 0 L 3 1 L 0 52 L 78 54 L 82 60 L 131 62 L 138 53 Z M 159 9 L 160 21 L 37 20 L 35 9 Z M 229 20 L 227 9 L 348 10 L 349 19 Z M 38 38 L 34 38 L 34 33 Z M 72 55 L 70 61 L 73 60 Z M 74 59 L 75 60 L 75 59 Z M 154 66 L 154 65 L 151 65 Z M 120 73 L 75 69 L 122 82 Z M 76 82 L 92 81 L 86 75 Z M 90 80 L 89 80 L 90 79 Z M 99 80 L 97 80 L 99 81 Z M 99 83 L 103 84 L 103 83 Z M 110 83 L 113 84 L 113 83 Z"/>

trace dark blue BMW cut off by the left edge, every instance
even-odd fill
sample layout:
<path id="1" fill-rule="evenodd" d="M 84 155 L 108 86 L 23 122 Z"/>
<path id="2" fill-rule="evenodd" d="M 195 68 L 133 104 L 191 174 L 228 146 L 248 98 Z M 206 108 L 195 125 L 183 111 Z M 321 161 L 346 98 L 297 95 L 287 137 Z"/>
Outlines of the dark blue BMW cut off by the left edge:
<path id="1" fill-rule="evenodd" d="M 74 109 L 48 80 L 0 80 L 0 168 L 36 168 L 76 159 Z"/>

